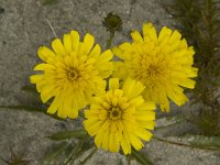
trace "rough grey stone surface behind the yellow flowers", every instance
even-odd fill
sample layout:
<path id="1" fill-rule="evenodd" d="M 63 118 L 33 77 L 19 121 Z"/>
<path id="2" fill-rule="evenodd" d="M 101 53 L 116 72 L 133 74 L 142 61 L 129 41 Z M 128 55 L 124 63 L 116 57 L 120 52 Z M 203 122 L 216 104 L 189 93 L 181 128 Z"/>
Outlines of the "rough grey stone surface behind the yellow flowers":
<path id="1" fill-rule="evenodd" d="M 157 29 L 173 22 L 158 0 L 59 0 L 51 6 L 42 6 L 42 1 L 0 0 L 0 8 L 4 9 L 0 13 L 0 105 L 30 102 L 30 98 L 20 88 L 29 84 L 32 68 L 40 62 L 37 47 L 50 46 L 55 35 L 61 37 L 73 29 L 78 30 L 81 37 L 90 32 L 103 47 L 108 34 L 101 22 L 111 11 L 118 13 L 123 21 L 123 31 L 117 34 L 113 45 L 130 40 L 130 31 L 141 30 L 143 22 L 151 21 Z M 45 114 L 1 109 L 0 156 L 8 160 L 9 148 L 12 147 L 15 153 L 23 153 L 24 157 L 31 160 L 31 164 L 41 165 L 45 151 L 53 144 L 45 136 L 69 129 L 74 129 L 72 121 L 56 121 Z M 157 141 L 147 144 L 145 151 L 157 165 L 220 164 L 219 155 L 213 152 Z M 125 164 L 121 155 L 100 150 L 88 165 L 114 165 L 121 158 Z M 0 164 L 3 164 L 1 160 Z"/>

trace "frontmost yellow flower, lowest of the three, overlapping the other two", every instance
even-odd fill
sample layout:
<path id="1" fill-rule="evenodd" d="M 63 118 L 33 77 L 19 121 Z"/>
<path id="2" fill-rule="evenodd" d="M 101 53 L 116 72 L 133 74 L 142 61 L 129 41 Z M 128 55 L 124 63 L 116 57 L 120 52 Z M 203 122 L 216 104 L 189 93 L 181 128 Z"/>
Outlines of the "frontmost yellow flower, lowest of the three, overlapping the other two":
<path id="1" fill-rule="evenodd" d="M 131 153 L 131 146 L 136 151 L 144 144 L 141 139 L 148 141 L 155 125 L 155 105 L 146 102 L 141 92 L 144 86 L 139 81 L 128 79 L 122 88 L 119 79 L 109 80 L 109 90 L 95 97 L 89 110 L 85 111 L 85 129 L 98 147 Z"/>

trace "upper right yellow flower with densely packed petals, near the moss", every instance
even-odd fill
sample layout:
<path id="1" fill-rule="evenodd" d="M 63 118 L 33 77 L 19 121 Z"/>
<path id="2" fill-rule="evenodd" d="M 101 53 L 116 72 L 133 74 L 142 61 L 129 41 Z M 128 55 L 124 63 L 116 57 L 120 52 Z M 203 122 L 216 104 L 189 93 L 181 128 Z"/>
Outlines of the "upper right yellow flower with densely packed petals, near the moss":
<path id="1" fill-rule="evenodd" d="M 132 43 L 123 43 L 113 48 L 113 53 L 123 59 L 116 62 L 114 76 L 122 79 L 131 77 L 145 85 L 143 97 L 169 110 L 169 101 L 182 106 L 187 101 L 185 88 L 194 88 L 197 76 L 194 64 L 194 48 L 188 47 L 185 38 L 177 31 L 164 26 L 156 34 L 152 23 L 143 24 L 143 37 L 138 32 L 131 33 Z"/>

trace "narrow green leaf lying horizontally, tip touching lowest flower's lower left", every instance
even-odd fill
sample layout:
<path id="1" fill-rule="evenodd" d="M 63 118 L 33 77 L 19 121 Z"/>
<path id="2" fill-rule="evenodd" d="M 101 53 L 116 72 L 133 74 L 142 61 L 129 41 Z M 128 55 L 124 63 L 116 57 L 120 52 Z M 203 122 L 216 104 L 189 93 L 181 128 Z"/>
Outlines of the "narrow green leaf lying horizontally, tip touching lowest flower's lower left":
<path id="1" fill-rule="evenodd" d="M 73 138 L 85 138 L 87 135 L 87 132 L 85 130 L 75 130 L 75 131 L 62 131 L 52 134 L 52 136 L 48 136 L 51 140 L 61 141 L 61 140 L 67 140 Z"/>

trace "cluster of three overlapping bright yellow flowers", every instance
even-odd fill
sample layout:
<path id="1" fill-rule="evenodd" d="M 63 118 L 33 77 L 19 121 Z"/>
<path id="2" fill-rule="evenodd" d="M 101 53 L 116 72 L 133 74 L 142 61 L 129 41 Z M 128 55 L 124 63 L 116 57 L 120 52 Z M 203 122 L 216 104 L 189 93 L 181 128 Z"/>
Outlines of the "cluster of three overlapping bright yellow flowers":
<path id="1" fill-rule="evenodd" d="M 75 119 L 85 110 L 84 125 L 98 147 L 131 153 L 141 150 L 155 127 L 155 103 L 169 110 L 169 99 L 187 101 L 184 88 L 194 88 L 197 76 L 194 48 L 180 33 L 164 26 L 156 34 L 152 23 L 143 24 L 143 35 L 131 33 L 132 43 L 101 52 L 91 34 L 82 41 L 77 31 L 42 46 L 31 76 L 43 102 L 53 98 L 47 112 Z M 113 55 L 121 61 L 112 61 Z M 107 80 L 108 79 L 108 80 Z"/>

